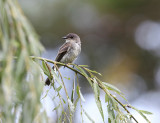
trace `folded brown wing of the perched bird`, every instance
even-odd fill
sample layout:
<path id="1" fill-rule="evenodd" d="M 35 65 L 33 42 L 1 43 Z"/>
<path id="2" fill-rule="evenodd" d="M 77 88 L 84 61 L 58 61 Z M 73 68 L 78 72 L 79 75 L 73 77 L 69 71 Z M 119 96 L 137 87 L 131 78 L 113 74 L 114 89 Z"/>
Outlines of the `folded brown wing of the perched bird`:
<path id="1" fill-rule="evenodd" d="M 64 43 L 64 44 L 59 48 L 58 55 L 57 55 L 55 61 L 60 62 L 61 59 L 63 58 L 63 56 L 68 52 L 68 50 L 70 49 L 70 47 L 71 47 L 71 43 L 69 43 L 69 42 Z"/>

